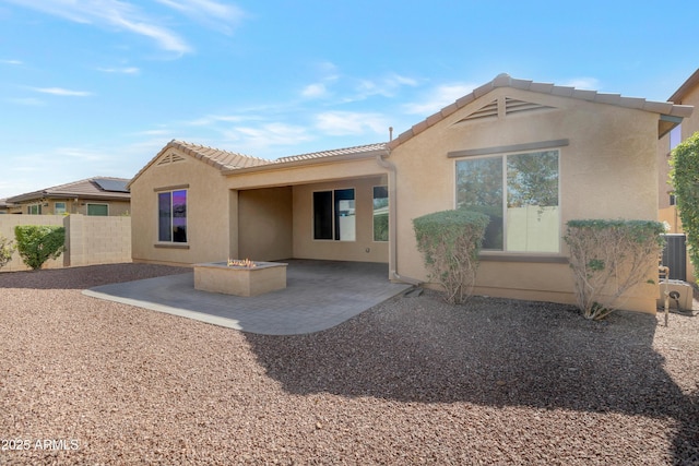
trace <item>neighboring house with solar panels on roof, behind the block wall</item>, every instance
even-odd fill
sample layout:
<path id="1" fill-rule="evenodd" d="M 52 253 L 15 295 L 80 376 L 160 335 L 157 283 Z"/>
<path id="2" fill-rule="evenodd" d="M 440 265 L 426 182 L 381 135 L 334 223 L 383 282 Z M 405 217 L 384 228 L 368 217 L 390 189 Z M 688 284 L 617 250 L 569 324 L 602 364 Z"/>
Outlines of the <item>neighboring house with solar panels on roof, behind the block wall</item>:
<path id="1" fill-rule="evenodd" d="M 9 214 L 128 215 L 128 179 L 94 177 L 8 198 Z"/>

